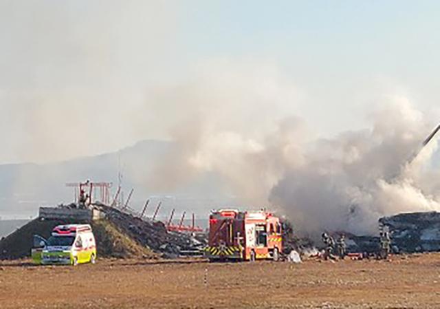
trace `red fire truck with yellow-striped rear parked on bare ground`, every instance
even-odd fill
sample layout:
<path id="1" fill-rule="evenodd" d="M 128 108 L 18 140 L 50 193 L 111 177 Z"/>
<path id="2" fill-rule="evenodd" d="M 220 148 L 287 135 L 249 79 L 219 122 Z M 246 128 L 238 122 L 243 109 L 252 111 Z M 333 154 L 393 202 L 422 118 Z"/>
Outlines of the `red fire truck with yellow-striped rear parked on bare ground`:
<path id="1" fill-rule="evenodd" d="M 213 211 L 205 256 L 214 260 L 278 261 L 283 250 L 282 226 L 267 211 Z"/>

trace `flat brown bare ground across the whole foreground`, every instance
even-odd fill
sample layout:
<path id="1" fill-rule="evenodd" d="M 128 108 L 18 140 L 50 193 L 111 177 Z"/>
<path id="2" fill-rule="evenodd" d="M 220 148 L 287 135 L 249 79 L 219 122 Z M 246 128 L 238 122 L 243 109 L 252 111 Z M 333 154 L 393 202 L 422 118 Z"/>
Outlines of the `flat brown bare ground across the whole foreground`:
<path id="1" fill-rule="evenodd" d="M 440 308 L 440 254 L 303 264 L 0 262 L 0 308 Z"/>

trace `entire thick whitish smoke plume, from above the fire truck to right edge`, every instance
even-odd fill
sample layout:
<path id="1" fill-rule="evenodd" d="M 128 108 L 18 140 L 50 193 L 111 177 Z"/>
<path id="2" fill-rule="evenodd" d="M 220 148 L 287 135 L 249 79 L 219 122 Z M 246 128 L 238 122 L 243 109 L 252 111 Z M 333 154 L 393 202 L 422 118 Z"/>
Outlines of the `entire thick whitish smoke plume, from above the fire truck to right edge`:
<path id="1" fill-rule="evenodd" d="M 428 164 L 437 142 L 408 163 L 434 124 L 402 98 L 389 98 L 371 121 L 331 139 L 314 138 L 300 118 L 261 138 L 202 130 L 180 162 L 219 173 L 243 203 L 269 203 L 307 232 L 369 234 L 382 215 L 440 210 L 440 173 Z"/>

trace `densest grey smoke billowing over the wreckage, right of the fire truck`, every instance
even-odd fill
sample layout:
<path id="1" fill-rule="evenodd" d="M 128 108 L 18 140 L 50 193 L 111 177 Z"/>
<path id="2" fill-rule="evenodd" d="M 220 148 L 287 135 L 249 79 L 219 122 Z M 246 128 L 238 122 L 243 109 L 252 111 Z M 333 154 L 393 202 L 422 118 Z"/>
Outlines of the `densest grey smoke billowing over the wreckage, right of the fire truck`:
<path id="1" fill-rule="evenodd" d="M 316 141 L 303 164 L 287 168 L 270 200 L 305 231 L 373 233 L 380 216 L 438 211 L 440 182 L 423 181 L 439 175 L 427 169 L 437 142 L 408 163 L 430 130 L 407 102 L 391 103 L 374 114 L 372 129 Z"/>

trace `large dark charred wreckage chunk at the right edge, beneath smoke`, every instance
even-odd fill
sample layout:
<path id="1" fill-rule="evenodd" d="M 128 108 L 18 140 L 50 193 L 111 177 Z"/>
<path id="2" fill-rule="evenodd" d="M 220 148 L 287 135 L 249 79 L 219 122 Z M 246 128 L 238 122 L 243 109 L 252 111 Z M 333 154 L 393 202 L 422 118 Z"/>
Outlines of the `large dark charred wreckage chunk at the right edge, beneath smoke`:
<path id="1" fill-rule="evenodd" d="M 440 251 L 440 213 L 401 213 L 379 222 L 390 231 L 395 251 Z"/>

